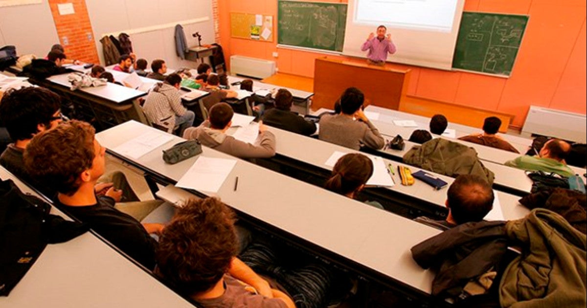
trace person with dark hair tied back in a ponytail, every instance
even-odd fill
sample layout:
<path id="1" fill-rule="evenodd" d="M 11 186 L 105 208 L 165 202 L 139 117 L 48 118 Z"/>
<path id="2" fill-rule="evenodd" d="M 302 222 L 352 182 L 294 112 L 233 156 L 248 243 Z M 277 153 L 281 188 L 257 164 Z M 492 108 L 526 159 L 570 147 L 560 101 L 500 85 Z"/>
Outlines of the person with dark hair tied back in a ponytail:
<path id="1" fill-rule="evenodd" d="M 355 199 L 372 175 L 373 162 L 369 157 L 359 153 L 349 153 L 336 161 L 332 168 L 332 175 L 326 180 L 324 188 Z M 379 202 L 366 201 L 365 203 L 383 209 Z"/>

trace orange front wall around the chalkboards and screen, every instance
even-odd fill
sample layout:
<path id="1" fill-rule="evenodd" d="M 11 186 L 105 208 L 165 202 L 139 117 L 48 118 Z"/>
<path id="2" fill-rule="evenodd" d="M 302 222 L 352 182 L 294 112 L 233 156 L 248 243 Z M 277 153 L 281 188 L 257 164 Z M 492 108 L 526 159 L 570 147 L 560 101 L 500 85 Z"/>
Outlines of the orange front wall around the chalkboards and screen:
<path id="1" fill-rule="evenodd" d="M 407 65 L 397 67 L 412 69 L 408 94 L 514 114 L 514 126 L 524 124 L 530 105 L 585 114 L 586 9 L 585 0 L 465 0 L 465 11 L 530 16 L 510 78 Z M 273 15 L 276 31 L 277 1 L 257 0 L 251 5 L 241 0 L 218 0 L 220 44 L 227 60 L 231 55 L 275 60 L 279 72 L 313 77 L 314 59 L 324 56 L 323 53 L 277 48 L 276 40 L 231 38 L 230 12 Z M 279 56 L 274 58 L 272 52 L 278 52 Z"/>

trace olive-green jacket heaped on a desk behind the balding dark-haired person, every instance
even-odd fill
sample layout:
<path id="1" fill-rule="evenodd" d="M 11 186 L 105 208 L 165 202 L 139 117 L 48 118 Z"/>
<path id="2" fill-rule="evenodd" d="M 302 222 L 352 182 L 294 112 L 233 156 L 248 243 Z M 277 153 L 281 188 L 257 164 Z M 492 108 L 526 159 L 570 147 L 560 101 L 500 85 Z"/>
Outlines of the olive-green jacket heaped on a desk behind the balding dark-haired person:
<path id="1" fill-rule="evenodd" d="M 477 152 L 467 145 L 436 138 L 408 151 L 403 161 L 436 173 L 457 177 L 460 174 L 476 174 L 493 184 L 495 175 L 477 158 Z"/>

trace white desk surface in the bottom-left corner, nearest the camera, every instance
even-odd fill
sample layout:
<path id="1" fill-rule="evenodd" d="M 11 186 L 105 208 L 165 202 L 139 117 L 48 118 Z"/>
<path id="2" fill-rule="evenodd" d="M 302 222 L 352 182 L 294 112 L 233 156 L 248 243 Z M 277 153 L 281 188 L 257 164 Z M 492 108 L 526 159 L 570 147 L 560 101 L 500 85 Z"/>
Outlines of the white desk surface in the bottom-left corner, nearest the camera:
<path id="1" fill-rule="evenodd" d="M 11 179 L 35 194 L 0 167 Z M 55 208 L 52 213 L 63 215 Z M 0 307 L 194 307 L 90 232 L 50 244 Z"/>

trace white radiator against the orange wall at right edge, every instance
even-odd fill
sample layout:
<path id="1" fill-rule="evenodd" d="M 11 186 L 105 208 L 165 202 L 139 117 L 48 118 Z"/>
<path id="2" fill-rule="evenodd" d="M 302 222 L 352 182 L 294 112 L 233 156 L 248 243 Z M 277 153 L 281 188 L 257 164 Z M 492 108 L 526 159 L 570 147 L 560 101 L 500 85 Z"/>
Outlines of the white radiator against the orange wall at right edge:
<path id="1" fill-rule="evenodd" d="M 530 106 L 522 132 L 585 143 L 585 114 Z"/>

